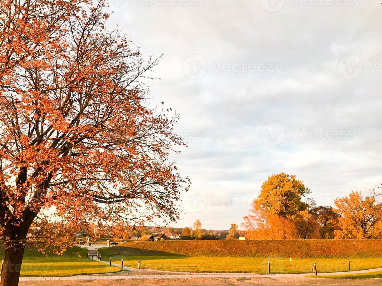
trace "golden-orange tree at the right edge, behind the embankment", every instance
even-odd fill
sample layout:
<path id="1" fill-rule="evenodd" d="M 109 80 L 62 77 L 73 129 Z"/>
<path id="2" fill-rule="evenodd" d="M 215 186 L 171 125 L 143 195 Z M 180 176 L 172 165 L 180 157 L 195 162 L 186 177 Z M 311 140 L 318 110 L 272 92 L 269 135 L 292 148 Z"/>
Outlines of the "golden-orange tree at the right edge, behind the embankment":
<path id="1" fill-rule="evenodd" d="M 361 192 L 352 191 L 348 196 L 334 201 L 338 217 L 339 230 L 335 238 L 361 239 L 381 238 L 382 203 L 375 196 L 363 196 Z"/>

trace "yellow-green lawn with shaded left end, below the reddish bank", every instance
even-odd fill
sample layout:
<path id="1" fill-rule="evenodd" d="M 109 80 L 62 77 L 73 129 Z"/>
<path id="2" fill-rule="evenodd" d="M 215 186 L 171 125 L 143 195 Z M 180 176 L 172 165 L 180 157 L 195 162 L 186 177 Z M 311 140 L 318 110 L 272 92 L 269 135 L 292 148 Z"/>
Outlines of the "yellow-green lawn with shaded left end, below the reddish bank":
<path id="1" fill-rule="evenodd" d="M 155 242 L 153 242 L 155 243 Z M 189 256 L 162 251 L 136 249 L 133 247 L 111 247 L 99 249 L 102 256 L 112 256 L 115 263 L 129 267 L 150 268 L 175 272 L 220 272 L 220 273 L 311 273 L 312 264 L 317 264 L 320 273 L 348 271 L 348 260 L 343 257 L 293 258 L 289 257 L 233 257 L 233 256 Z M 366 270 L 382 267 L 381 257 L 351 257 L 352 270 Z"/>

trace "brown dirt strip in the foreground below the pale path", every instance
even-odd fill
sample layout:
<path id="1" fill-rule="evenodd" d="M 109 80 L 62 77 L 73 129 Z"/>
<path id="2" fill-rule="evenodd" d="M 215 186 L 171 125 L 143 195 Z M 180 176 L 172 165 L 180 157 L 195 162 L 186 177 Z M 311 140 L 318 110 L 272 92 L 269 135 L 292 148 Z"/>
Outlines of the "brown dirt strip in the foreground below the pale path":
<path id="1" fill-rule="evenodd" d="M 150 278 L 150 279 L 118 279 L 118 280 L 77 280 L 77 281 L 33 281 L 33 286 L 157 286 L 157 285 L 171 285 L 171 286 L 185 286 L 185 285 L 256 285 L 256 286 L 278 286 L 278 285 L 293 285 L 293 286 L 324 286 L 324 285 L 381 285 L 382 279 L 364 279 L 364 280 L 329 280 L 329 279 L 309 279 L 309 278 Z M 23 281 L 19 283 L 20 286 L 30 286 L 31 281 Z"/>

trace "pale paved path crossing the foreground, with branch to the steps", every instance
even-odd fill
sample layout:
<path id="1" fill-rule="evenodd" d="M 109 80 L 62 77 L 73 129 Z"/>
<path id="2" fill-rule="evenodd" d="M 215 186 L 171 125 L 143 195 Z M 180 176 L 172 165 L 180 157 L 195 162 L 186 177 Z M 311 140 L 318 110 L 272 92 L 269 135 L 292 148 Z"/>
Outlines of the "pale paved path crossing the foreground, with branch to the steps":
<path id="1" fill-rule="evenodd" d="M 109 264 L 108 262 L 102 261 L 103 263 Z M 121 265 L 113 264 L 114 266 L 121 267 Z M 125 269 L 125 266 L 124 266 Z M 253 274 L 253 273 L 178 273 L 178 274 L 162 274 L 162 275 L 144 275 L 146 271 L 153 270 L 139 270 L 131 267 L 126 267 L 126 270 L 133 270 L 134 272 L 141 273 L 142 275 L 84 275 L 84 276 L 63 276 L 63 277 L 21 277 L 20 281 L 43 281 L 43 280 L 112 280 L 112 279 L 152 279 L 152 278 L 236 278 L 236 277 L 299 277 L 303 278 L 307 275 L 312 275 L 312 273 L 304 274 Z M 342 274 L 356 274 L 356 273 L 368 273 L 382 271 L 382 268 L 359 270 L 359 271 L 349 271 L 349 272 L 334 272 L 334 273 L 318 273 L 318 275 L 342 275 Z M 158 271 L 160 272 L 160 271 Z M 163 272 L 161 272 L 163 273 Z M 168 272 L 167 272 L 168 273 Z M 174 272 L 173 272 L 174 273 Z"/>

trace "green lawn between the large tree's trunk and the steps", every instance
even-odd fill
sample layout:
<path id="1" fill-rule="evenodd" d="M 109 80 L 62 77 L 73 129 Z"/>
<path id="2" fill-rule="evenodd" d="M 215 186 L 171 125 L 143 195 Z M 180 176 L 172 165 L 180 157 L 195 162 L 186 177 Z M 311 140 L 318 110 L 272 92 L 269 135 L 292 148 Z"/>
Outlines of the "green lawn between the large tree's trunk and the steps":
<path id="1" fill-rule="evenodd" d="M 80 256 L 80 257 L 79 257 Z M 47 256 L 39 251 L 27 249 L 21 265 L 21 276 L 73 276 L 79 274 L 96 274 L 119 272 L 118 267 L 91 261 L 86 258 L 87 249 L 73 247 L 67 249 L 64 255 L 48 253 Z M 0 259 L 4 257 L 4 249 L 0 250 Z"/>

